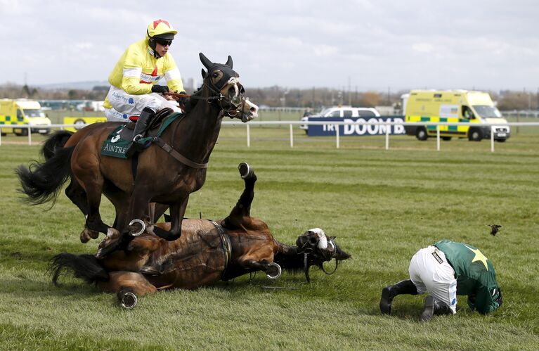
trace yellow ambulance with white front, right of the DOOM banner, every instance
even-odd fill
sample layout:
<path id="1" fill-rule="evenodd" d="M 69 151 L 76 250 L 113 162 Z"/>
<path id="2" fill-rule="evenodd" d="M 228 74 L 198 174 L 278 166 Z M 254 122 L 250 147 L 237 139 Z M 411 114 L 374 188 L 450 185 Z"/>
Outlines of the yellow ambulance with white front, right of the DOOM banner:
<path id="1" fill-rule="evenodd" d="M 494 139 L 506 141 L 511 130 L 507 120 L 494 106 L 491 96 L 483 91 L 467 90 L 412 90 L 404 94 L 403 111 L 405 122 L 417 125 L 405 125 L 407 135 L 419 140 L 436 136 L 435 125 L 422 125 L 424 122 L 469 122 L 474 125 L 441 125 L 440 136 L 443 140 L 468 138 L 480 141 L 491 137 L 491 125 L 494 124 Z"/>

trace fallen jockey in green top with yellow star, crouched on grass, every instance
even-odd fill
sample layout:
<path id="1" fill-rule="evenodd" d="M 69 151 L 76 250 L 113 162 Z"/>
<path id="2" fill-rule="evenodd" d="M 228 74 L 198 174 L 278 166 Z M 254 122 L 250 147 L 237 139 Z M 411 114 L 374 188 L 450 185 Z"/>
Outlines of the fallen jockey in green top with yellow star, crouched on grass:
<path id="1" fill-rule="evenodd" d="M 496 282 L 491 260 L 472 245 L 441 240 L 417 251 L 408 268 L 410 279 L 382 290 L 380 311 L 391 314 L 396 295 L 424 294 L 421 321 L 435 314 L 455 314 L 457 295 L 467 295 L 468 305 L 488 314 L 502 305 L 502 291 Z"/>

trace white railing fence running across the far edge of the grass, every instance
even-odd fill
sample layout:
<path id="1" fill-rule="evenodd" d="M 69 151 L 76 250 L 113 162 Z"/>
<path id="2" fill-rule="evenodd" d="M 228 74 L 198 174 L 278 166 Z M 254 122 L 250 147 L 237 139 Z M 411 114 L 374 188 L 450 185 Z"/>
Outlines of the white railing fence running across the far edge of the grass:
<path id="1" fill-rule="evenodd" d="M 245 125 L 246 127 L 246 134 L 247 134 L 247 147 L 251 146 L 251 125 L 289 125 L 290 126 L 290 147 L 294 147 L 294 132 L 293 128 L 294 126 L 299 125 L 379 125 L 385 127 L 385 148 L 386 150 L 389 150 L 389 131 L 391 130 L 391 126 L 417 126 L 417 122 L 349 122 L 349 121 L 331 121 L 331 122 L 325 122 L 325 121 L 311 121 L 311 122 L 304 122 L 304 121 L 251 121 L 245 124 L 239 124 L 238 122 L 233 121 L 223 121 L 223 125 Z M 462 122 L 422 122 L 421 125 L 423 126 L 436 126 L 436 150 L 440 151 L 440 126 L 463 126 L 468 125 L 472 127 L 477 127 L 477 123 L 462 123 Z M 539 122 L 508 122 L 507 125 L 512 127 L 539 127 Z M 495 126 L 500 126 L 500 124 L 481 124 L 481 127 L 490 126 L 491 128 Z M 36 128 L 36 126 L 26 126 L 26 125 L 17 125 L 17 128 L 21 129 L 28 129 L 28 145 L 32 145 L 32 133 L 30 131 L 31 128 Z M 79 125 L 50 125 L 48 127 L 51 128 L 58 128 L 58 129 L 64 129 L 65 127 L 80 127 Z M 2 127 L 0 127 L 1 129 Z M 5 126 L 5 128 L 8 128 L 8 126 Z M 11 126 L 9 126 L 11 128 Z M 402 135 L 402 134 L 398 134 Z M 361 138 L 363 136 L 356 136 L 358 138 Z M 368 136 L 367 136 L 368 137 Z M 340 148 L 340 139 L 341 136 L 339 135 L 339 128 L 335 128 L 335 144 L 337 148 Z M 0 145 L 2 144 L 2 137 L 0 135 Z M 491 131 L 491 151 L 494 152 L 494 133 Z"/>

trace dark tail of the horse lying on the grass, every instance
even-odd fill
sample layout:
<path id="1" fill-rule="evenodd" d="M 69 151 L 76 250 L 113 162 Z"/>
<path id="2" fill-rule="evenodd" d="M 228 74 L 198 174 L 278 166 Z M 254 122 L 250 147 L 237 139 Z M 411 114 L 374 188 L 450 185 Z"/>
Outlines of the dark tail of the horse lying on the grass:
<path id="1" fill-rule="evenodd" d="M 75 278 L 84 279 L 86 283 L 108 281 L 109 275 L 98 259 L 89 254 L 73 255 L 72 253 L 60 253 L 51 259 L 48 271 L 53 276 L 54 285 L 58 286 L 58 277 L 71 271 Z"/>

